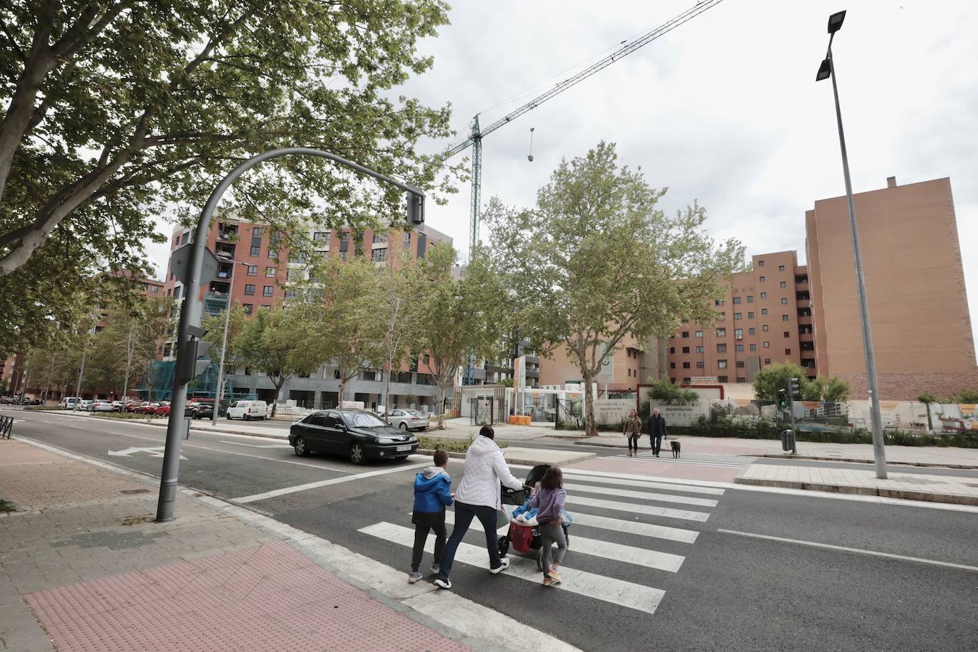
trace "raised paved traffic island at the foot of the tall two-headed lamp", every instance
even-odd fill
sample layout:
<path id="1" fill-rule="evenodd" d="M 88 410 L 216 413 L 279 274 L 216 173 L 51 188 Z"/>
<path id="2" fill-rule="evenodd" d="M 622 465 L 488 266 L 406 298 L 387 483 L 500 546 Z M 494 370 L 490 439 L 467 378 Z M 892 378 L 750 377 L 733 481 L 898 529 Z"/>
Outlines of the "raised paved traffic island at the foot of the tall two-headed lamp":
<path id="1" fill-rule="evenodd" d="M 978 505 L 978 479 L 921 473 L 887 473 L 855 468 L 752 464 L 734 482 L 744 485 L 810 489 L 840 494 L 866 494 L 905 500 Z"/>

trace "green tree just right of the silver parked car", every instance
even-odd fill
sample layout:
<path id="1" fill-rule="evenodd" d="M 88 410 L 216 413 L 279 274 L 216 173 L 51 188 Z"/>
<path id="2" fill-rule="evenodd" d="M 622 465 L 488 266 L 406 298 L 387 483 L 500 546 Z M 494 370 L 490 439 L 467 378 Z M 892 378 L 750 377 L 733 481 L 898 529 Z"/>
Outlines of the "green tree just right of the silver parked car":
<path id="1" fill-rule="evenodd" d="M 512 332 L 506 287 L 485 252 L 474 252 L 461 278 L 452 274 L 456 256 L 451 246 L 436 244 L 422 263 L 419 350 L 429 356 L 437 387 L 434 409 L 442 427 L 448 387 L 454 384 L 467 357 L 498 357 Z"/>

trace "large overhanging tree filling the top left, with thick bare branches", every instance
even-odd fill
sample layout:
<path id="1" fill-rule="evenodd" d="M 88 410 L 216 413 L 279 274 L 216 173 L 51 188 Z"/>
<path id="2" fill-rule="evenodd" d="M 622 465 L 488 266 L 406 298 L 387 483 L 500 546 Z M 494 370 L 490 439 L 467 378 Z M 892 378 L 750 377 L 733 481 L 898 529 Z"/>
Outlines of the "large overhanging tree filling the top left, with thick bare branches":
<path id="1" fill-rule="evenodd" d="M 414 149 L 451 135 L 448 107 L 390 92 L 432 65 L 418 45 L 447 23 L 442 0 L 0 7 L 4 345 L 42 343 L 46 314 L 66 310 L 99 271 L 146 274 L 142 242 L 164 239 L 154 218 L 190 219 L 251 154 L 319 147 L 451 191 L 455 174 L 439 176 L 440 159 Z M 309 214 L 333 226 L 389 223 L 402 201 L 396 188 L 296 156 L 250 172 L 222 208 L 289 216 L 274 220 L 289 232 Z M 30 310 L 18 312 L 24 296 Z M 12 327 L 19 339 L 8 338 Z"/>

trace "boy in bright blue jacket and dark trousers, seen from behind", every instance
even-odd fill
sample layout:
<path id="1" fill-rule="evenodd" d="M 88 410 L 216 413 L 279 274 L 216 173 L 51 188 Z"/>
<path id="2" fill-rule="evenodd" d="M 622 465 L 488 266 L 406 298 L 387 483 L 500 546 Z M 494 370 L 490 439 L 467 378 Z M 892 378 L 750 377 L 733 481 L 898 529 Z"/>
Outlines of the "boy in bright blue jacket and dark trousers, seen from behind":
<path id="1" fill-rule="evenodd" d="M 441 570 L 439 562 L 445 549 L 445 507 L 454 502 L 452 498 L 452 479 L 448 477 L 448 454 L 434 452 L 434 466 L 428 466 L 415 476 L 415 511 L 411 522 L 415 524 L 415 547 L 411 557 L 411 575 L 408 582 L 414 584 L 422 579 L 418 568 L 422 565 L 424 543 L 429 530 L 434 530 L 434 563 L 431 572 L 435 575 Z"/>

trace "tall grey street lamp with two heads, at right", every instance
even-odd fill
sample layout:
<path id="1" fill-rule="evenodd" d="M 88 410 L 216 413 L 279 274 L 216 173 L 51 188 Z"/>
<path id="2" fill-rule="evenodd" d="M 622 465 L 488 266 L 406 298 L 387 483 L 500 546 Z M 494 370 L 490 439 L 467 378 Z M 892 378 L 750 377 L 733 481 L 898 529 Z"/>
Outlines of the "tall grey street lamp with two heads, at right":
<path id="1" fill-rule="evenodd" d="M 849 157 L 846 155 L 846 138 L 842 131 L 842 110 L 839 109 L 839 89 L 835 79 L 835 64 L 832 60 L 832 39 L 842 27 L 846 18 L 844 11 L 828 17 L 828 50 L 816 81 L 832 78 L 832 96 L 835 98 L 835 120 L 839 125 L 839 149 L 842 151 L 842 174 L 846 181 L 846 199 L 849 202 L 849 225 L 852 229 L 853 258 L 856 262 L 856 287 L 859 291 L 859 314 L 863 326 L 863 351 L 866 354 L 867 391 L 869 394 L 869 420 L 872 424 L 872 453 L 876 466 L 876 477 L 886 479 L 886 453 L 883 450 L 883 418 L 879 409 L 879 386 L 876 383 L 876 358 L 872 351 L 872 333 L 869 331 L 869 304 L 866 298 L 866 278 L 863 274 L 863 253 L 859 244 L 859 229 L 856 226 L 856 204 L 853 201 L 853 185 L 849 178 Z"/>

